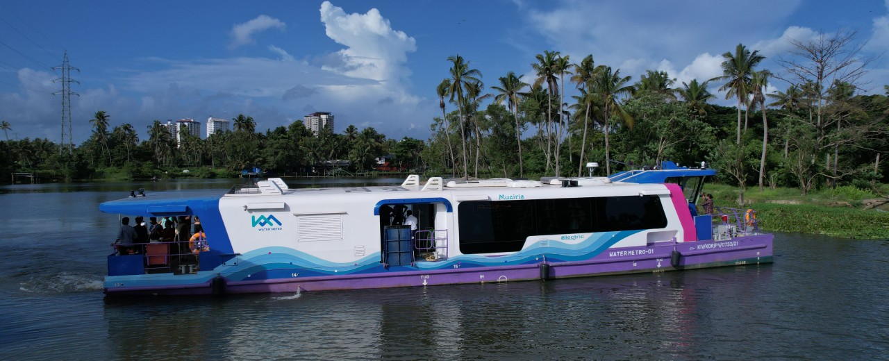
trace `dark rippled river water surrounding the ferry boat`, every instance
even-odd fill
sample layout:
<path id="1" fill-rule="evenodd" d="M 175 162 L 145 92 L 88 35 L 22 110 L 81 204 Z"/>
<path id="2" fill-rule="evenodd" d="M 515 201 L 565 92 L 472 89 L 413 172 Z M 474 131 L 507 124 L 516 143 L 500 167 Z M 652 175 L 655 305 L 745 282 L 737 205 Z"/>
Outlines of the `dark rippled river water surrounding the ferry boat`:
<path id="1" fill-rule="evenodd" d="M 776 234 L 774 263 L 383 290 L 106 299 L 132 189 L 0 187 L 0 360 L 886 359 L 889 241 Z M 292 187 L 397 184 L 287 180 Z"/>

